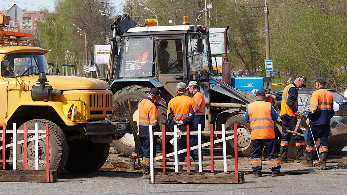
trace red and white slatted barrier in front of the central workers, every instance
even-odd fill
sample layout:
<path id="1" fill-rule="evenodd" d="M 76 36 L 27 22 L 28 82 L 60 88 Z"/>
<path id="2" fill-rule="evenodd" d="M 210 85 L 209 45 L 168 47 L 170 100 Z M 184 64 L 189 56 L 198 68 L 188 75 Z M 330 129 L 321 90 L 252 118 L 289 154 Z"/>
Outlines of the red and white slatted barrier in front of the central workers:
<path id="1" fill-rule="evenodd" d="M 213 131 L 213 124 L 210 125 L 210 131 L 202 131 L 201 130 L 201 125 L 198 125 L 198 131 L 197 132 L 190 132 L 189 131 L 189 125 L 187 125 L 187 132 L 177 132 L 177 125 L 174 126 L 174 132 L 166 132 L 165 126 L 162 126 L 162 132 L 153 132 L 152 125 L 149 127 L 150 129 L 150 137 L 153 137 L 154 135 L 162 135 L 162 156 L 157 156 L 153 158 L 153 139 L 150 139 L 150 183 L 154 183 L 154 165 L 162 165 L 163 172 L 166 172 L 166 165 L 167 164 L 172 164 L 172 162 L 166 162 L 166 158 L 174 156 L 174 167 L 175 167 L 175 172 L 178 172 L 178 165 L 183 165 L 187 164 L 187 172 L 190 172 L 190 166 L 191 164 L 196 164 L 195 162 L 190 162 L 190 150 L 196 150 L 198 149 L 198 167 L 199 167 L 199 172 L 202 172 L 202 147 L 210 146 L 210 156 L 211 156 L 211 161 L 210 161 L 210 166 L 211 166 L 211 172 L 214 172 L 214 159 L 213 159 L 213 145 L 216 143 L 222 142 L 223 145 L 223 170 L 224 172 L 227 172 L 227 151 L 226 151 L 226 141 L 229 139 L 234 138 L 234 149 L 235 149 L 235 181 L 238 183 L 238 161 L 237 161 L 237 125 L 234 124 L 234 130 L 225 130 L 225 125 L 222 124 L 222 130 L 221 131 Z M 235 132 L 235 133 L 234 133 Z M 202 144 L 202 139 L 201 136 L 202 134 L 205 135 L 210 135 L 210 142 L 203 143 Z M 221 139 L 216 139 L 214 140 L 213 137 L 215 134 L 222 134 Z M 231 136 L 227 136 L 226 134 L 234 134 Z M 166 152 L 166 136 L 167 135 L 173 135 L 174 136 L 174 152 L 168 153 Z M 177 137 L 178 135 L 186 135 L 187 141 L 186 141 L 186 148 L 183 150 L 177 149 Z M 190 146 L 189 138 L 190 135 L 198 135 L 198 145 L 196 146 Z M 181 153 L 187 153 L 187 162 L 178 162 L 178 154 Z M 161 160 L 162 162 L 155 162 L 158 160 Z M 206 164 L 206 163 L 204 163 Z"/>

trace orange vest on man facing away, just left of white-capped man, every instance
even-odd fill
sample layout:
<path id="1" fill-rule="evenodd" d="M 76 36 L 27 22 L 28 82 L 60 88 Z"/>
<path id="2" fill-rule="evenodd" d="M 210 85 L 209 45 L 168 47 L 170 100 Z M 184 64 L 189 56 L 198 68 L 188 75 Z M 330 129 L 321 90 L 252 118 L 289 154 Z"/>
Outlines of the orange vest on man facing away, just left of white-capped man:
<path id="1" fill-rule="evenodd" d="M 180 121 L 189 116 L 191 108 L 195 111 L 193 98 L 186 95 L 178 95 L 169 101 L 167 115 L 169 115 L 171 109 L 174 112 L 174 118 Z"/>

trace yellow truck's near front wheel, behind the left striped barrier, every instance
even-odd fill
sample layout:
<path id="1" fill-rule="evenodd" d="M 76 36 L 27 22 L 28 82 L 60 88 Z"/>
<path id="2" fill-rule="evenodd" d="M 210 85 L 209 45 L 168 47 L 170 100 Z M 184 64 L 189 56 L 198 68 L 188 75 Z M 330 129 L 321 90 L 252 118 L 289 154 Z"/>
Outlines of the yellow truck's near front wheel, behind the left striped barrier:
<path id="1" fill-rule="evenodd" d="M 61 128 L 55 123 L 44 120 L 44 119 L 34 119 L 26 122 L 27 130 L 35 130 L 35 123 L 39 130 L 46 129 L 46 123 L 49 124 L 49 160 L 50 160 L 50 170 L 61 171 L 67 161 L 69 149 L 67 145 L 67 139 Z M 24 130 L 24 124 L 21 125 L 18 130 Z M 40 135 L 45 135 L 45 133 L 39 133 Z M 35 137 L 34 133 L 28 133 L 28 138 Z M 17 133 L 17 142 L 24 139 L 23 133 Z M 46 161 L 46 138 L 39 139 L 39 160 Z M 13 155 L 13 148 L 11 148 L 11 156 Z M 28 156 L 28 170 L 35 170 L 35 162 L 29 162 L 30 160 L 35 160 L 35 142 L 30 141 L 27 144 L 27 156 Z M 24 143 L 17 144 L 17 160 L 24 160 Z M 17 168 L 19 170 L 24 170 L 24 163 L 17 163 Z M 46 163 L 39 162 L 39 170 L 46 170 Z"/>

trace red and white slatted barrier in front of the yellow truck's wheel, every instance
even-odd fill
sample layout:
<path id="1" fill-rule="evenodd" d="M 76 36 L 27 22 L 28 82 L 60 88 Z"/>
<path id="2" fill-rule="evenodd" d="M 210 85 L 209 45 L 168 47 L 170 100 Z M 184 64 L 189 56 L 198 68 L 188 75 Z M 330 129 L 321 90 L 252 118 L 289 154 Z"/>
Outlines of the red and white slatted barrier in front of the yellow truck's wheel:
<path id="1" fill-rule="evenodd" d="M 24 163 L 24 169 L 27 170 L 28 168 L 28 154 L 27 154 L 27 145 L 28 141 L 35 141 L 35 160 L 29 160 L 29 162 L 35 162 L 35 170 L 39 170 L 39 162 L 46 162 L 46 175 L 47 175 L 47 181 L 50 181 L 50 172 L 49 172 L 49 124 L 46 124 L 45 130 L 39 130 L 37 127 L 37 123 L 35 123 L 35 130 L 27 130 L 27 124 L 24 124 L 24 130 L 17 130 L 17 124 L 13 124 L 13 130 L 6 130 L 6 124 L 4 123 L 2 125 L 2 130 L 0 130 L 0 133 L 2 134 L 2 146 L 0 146 L 0 150 L 2 150 L 2 169 L 6 169 L 6 162 L 12 162 L 13 163 L 13 170 L 17 170 L 17 163 Z M 12 133 L 13 143 L 6 144 L 6 134 Z M 23 133 L 24 139 L 20 141 L 17 140 L 17 134 Z M 34 133 L 35 136 L 31 138 L 27 138 L 28 133 Z M 44 134 L 44 135 L 40 135 Z M 40 160 L 39 161 L 39 139 L 46 138 L 46 160 Z M 24 143 L 24 160 L 17 160 L 17 145 Z M 13 146 L 13 147 L 12 147 Z M 6 148 L 12 147 L 12 154 L 13 159 L 6 159 Z"/>

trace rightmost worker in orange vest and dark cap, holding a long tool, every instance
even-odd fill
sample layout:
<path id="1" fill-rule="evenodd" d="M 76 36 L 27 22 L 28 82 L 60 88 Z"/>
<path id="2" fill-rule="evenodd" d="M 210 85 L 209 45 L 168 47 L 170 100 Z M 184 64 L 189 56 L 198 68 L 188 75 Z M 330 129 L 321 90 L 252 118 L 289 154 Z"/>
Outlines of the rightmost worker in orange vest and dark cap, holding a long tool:
<path id="1" fill-rule="evenodd" d="M 334 116 L 333 96 L 325 89 L 327 79 L 318 77 L 315 80 L 316 91 L 313 92 L 310 106 L 308 109 L 307 125 L 311 125 L 311 131 L 307 133 L 306 160 L 301 161 L 305 167 L 313 167 L 313 152 L 315 150 L 314 142 L 319 138 L 321 141 L 319 147 L 320 161 L 315 167 L 325 167 L 325 161 L 328 154 L 328 137 L 330 133 L 330 119 Z"/>

